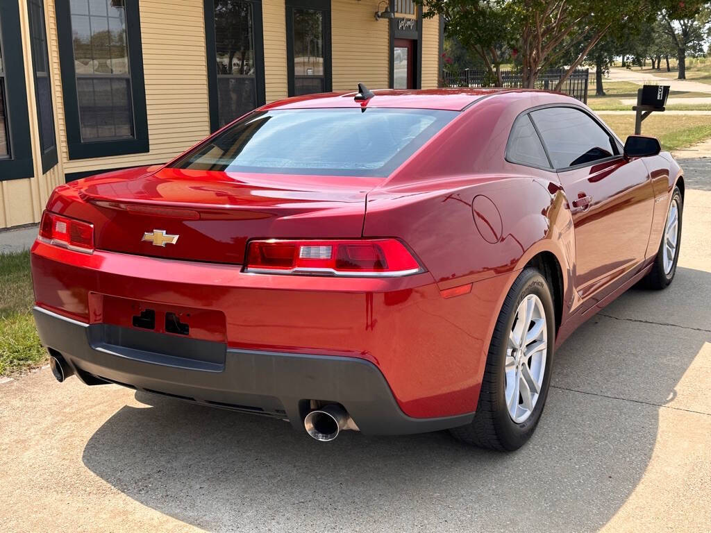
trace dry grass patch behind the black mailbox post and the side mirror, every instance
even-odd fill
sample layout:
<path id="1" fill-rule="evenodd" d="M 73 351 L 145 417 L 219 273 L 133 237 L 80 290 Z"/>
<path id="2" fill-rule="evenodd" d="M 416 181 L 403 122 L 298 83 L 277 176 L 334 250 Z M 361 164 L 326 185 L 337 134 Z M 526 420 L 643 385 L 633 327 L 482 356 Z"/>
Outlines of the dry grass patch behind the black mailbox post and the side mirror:
<path id="1" fill-rule="evenodd" d="M 642 134 L 659 139 L 664 150 L 673 151 L 711 137 L 711 115 L 652 114 L 642 123 Z M 634 134 L 634 114 L 603 115 L 602 119 L 624 141 Z"/>

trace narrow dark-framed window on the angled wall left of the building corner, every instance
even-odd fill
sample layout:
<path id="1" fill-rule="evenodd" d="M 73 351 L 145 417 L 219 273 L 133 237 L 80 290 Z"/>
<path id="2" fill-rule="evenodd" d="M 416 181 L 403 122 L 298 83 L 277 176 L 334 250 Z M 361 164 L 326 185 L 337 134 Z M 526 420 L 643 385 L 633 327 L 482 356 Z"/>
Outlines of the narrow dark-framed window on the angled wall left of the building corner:
<path id="1" fill-rule="evenodd" d="M 28 0 L 32 65 L 35 77 L 35 99 L 42 156 L 42 172 L 57 164 L 57 144 L 52 107 L 52 85 L 49 77 L 47 31 L 43 0 Z"/>

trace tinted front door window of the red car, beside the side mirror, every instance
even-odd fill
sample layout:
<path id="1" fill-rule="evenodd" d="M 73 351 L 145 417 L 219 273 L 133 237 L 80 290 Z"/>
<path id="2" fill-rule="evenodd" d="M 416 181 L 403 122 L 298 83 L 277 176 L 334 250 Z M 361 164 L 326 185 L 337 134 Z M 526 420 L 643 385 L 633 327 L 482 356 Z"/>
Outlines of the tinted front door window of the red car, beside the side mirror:
<path id="1" fill-rule="evenodd" d="M 573 107 L 545 107 L 531 113 L 555 168 L 616 156 L 617 144 L 602 126 Z"/>

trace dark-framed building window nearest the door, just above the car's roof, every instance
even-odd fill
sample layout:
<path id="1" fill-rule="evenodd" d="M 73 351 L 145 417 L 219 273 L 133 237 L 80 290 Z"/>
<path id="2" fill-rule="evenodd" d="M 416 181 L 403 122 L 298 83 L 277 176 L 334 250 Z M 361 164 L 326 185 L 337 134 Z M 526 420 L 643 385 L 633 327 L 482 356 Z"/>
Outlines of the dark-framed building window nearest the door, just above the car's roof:
<path id="1" fill-rule="evenodd" d="M 287 0 L 289 96 L 331 91 L 331 2 Z"/>

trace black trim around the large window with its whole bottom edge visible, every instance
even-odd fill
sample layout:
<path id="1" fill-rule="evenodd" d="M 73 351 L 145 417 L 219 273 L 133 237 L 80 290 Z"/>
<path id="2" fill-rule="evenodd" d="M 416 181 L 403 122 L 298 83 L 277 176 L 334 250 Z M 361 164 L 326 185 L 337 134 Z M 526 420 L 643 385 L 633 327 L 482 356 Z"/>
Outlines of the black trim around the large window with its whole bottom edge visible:
<path id="1" fill-rule="evenodd" d="M 69 4 L 70 0 L 55 0 L 59 62 L 62 72 L 62 93 L 64 99 L 65 127 L 67 130 L 67 149 L 70 160 L 144 154 L 150 151 L 139 0 L 124 0 L 129 72 L 131 75 L 134 139 L 82 141 L 77 79 L 74 67 L 72 18 Z"/>

